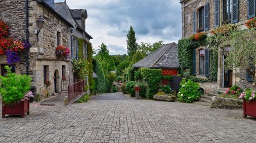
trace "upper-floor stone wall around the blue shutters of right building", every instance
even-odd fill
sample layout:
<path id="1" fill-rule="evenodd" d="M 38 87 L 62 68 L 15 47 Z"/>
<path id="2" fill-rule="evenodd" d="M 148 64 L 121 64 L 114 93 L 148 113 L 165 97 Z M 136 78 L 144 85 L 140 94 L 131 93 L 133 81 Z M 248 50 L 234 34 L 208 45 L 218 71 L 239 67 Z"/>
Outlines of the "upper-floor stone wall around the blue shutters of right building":
<path id="1" fill-rule="evenodd" d="M 209 2 L 209 29 L 212 30 L 214 26 L 214 0 L 190 0 L 183 3 L 182 16 L 183 16 L 183 37 L 189 37 L 193 34 L 193 10 L 198 10 Z M 222 1 L 220 1 L 220 8 Z M 221 12 L 220 12 L 221 13 Z M 197 15 L 198 16 L 198 15 Z M 239 1 L 239 20 L 236 25 L 242 25 L 247 20 L 247 0 Z M 220 21 L 222 21 L 222 14 L 220 14 Z M 198 18 L 197 18 L 198 22 Z M 198 26 L 198 24 L 197 24 Z M 209 33 L 206 32 L 206 33 Z"/>

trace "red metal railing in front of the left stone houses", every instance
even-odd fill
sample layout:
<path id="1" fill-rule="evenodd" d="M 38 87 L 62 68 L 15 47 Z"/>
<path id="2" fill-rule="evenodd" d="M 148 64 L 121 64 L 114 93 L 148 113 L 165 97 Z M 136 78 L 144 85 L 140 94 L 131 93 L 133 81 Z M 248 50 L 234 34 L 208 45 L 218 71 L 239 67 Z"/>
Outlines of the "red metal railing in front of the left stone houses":
<path id="1" fill-rule="evenodd" d="M 75 101 L 84 94 L 84 80 L 68 85 L 68 103 Z"/>

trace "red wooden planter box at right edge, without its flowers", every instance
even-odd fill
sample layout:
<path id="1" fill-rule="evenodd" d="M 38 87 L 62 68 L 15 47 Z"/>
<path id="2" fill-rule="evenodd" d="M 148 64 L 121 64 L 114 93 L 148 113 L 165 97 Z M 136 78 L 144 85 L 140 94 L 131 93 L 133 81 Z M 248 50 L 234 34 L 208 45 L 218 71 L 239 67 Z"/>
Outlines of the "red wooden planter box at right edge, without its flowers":
<path id="1" fill-rule="evenodd" d="M 245 99 L 243 99 L 243 118 L 246 118 L 247 115 L 256 118 L 256 100 L 246 102 Z"/>

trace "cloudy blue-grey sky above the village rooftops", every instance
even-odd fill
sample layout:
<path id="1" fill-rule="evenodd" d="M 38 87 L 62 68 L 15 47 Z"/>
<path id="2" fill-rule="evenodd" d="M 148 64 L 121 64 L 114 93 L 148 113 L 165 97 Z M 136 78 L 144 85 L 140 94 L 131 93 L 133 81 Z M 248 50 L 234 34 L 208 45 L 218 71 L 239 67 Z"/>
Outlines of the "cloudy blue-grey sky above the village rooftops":
<path id="1" fill-rule="evenodd" d="M 64 0 L 55 0 L 63 2 Z M 86 9 L 86 32 L 94 49 L 104 42 L 110 54 L 127 54 L 126 34 L 130 25 L 137 42 L 164 44 L 181 38 L 179 0 L 67 0 L 71 9 Z"/>

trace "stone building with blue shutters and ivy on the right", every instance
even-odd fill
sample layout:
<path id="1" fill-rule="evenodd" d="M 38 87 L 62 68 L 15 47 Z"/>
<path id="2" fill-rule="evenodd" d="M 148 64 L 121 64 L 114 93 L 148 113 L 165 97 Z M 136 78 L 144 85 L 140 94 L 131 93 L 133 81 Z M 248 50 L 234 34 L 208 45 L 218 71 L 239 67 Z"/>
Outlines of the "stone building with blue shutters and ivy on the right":
<path id="1" fill-rule="evenodd" d="M 238 30 L 246 29 L 248 19 L 255 18 L 255 0 L 180 0 L 182 8 L 182 37 L 204 32 L 212 36 L 211 31 L 223 24 L 236 25 Z M 229 47 L 218 50 L 218 75 L 216 83 L 204 83 L 205 92 L 225 90 L 233 85 L 253 88 L 251 77 L 246 70 L 225 70 L 225 52 Z M 193 49 L 193 75 L 201 79 L 209 77 L 210 53 L 207 47 Z"/>

